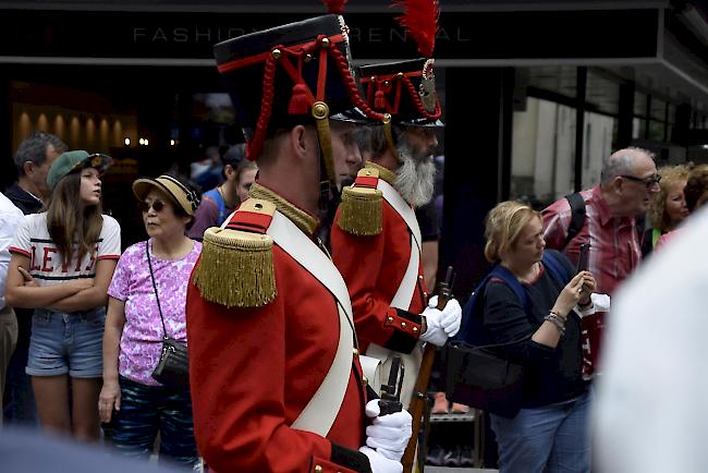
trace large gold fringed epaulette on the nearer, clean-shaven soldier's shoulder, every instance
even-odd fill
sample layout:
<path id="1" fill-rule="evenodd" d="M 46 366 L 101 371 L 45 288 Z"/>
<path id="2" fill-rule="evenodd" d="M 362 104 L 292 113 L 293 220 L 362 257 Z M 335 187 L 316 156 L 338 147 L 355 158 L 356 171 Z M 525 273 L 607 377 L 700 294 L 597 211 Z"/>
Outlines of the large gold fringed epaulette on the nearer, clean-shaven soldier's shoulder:
<path id="1" fill-rule="evenodd" d="M 273 240 L 266 234 L 274 204 L 245 201 L 224 228 L 204 232 L 194 284 L 209 302 L 227 307 L 260 307 L 276 299 Z"/>

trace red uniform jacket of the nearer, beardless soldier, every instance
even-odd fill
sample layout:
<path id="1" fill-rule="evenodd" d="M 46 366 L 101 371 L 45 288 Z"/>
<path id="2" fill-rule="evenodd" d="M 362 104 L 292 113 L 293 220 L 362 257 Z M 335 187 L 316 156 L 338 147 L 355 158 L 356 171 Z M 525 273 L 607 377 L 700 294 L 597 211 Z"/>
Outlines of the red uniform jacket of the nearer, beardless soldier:
<path id="1" fill-rule="evenodd" d="M 190 283 L 187 337 L 199 452 L 216 472 L 369 472 L 358 359 L 327 438 L 290 427 L 329 371 L 339 316 L 333 296 L 273 245 L 277 296 L 227 308 Z M 318 468 L 319 466 L 319 468 Z"/>

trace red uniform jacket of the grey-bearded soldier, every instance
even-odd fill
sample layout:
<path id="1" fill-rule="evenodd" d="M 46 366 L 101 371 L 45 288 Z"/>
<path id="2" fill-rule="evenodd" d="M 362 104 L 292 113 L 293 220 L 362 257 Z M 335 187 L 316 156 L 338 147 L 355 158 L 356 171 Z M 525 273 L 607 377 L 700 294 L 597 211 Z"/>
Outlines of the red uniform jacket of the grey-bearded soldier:
<path id="1" fill-rule="evenodd" d="M 428 296 L 418 266 L 418 283 L 407 311 L 390 306 L 408 266 L 411 231 L 401 216 L 383 199 L 382 231 L 357 237 L 332 225 L 332 260 L 349 288 L 354 324 L 363 352 L 369 343 L 411 353 L 420 333 L 420 313 Z"/>

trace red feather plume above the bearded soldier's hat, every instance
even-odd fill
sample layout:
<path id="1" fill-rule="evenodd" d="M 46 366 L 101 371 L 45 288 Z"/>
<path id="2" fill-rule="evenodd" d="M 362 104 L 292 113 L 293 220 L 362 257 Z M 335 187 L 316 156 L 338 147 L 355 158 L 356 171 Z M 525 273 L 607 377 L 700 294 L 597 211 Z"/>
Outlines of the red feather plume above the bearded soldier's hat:
<path id="1" fill-rule="evenodd" d="M 438 1 L 393 0 L 393 5 L 403 8 L 403 14 L 395 20 L 418 45 L 418 52 L 425 58 L 432 58 L 440 17 Z"/>

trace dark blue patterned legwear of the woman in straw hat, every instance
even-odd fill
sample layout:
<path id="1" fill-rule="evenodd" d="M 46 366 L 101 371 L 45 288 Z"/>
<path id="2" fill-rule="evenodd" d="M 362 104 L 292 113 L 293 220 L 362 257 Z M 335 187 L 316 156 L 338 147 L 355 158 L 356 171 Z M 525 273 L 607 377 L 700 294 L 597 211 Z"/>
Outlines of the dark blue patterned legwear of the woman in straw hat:
<path id="1" fill-rule="evenodd" d="M 191 470 L 197 462 L 188 389 L 147 386 L 120 376 L 121 410 L 115 416 L 111 441 L 129 457 L 149 458 L 160 433 L 160 463 Z"/>

